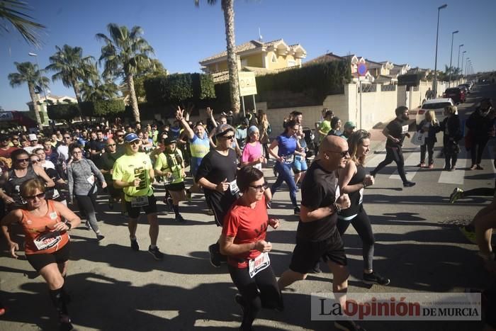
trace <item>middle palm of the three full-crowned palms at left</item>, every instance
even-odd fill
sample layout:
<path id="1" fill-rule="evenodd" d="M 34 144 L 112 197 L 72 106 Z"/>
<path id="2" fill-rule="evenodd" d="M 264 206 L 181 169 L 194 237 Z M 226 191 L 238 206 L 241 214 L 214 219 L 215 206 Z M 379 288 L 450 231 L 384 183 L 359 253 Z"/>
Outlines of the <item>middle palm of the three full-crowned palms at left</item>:
<path id="1" fill-rule="evenodd" d="M 55 74 L 52 80 L 62 80 L 62 84 L 66 87 L 72 87 L 76 94 L 77 102 L 81 102 L 81 91 L 79 91 L 79 81 L 87 80 L 94 77 L 94 57 L 83 57 L 83 49 L 81 47 L 71 47 L 64 45 L 62 48 L 55 46 L 57 52 L 52 55 L 46 69 Z"/>

